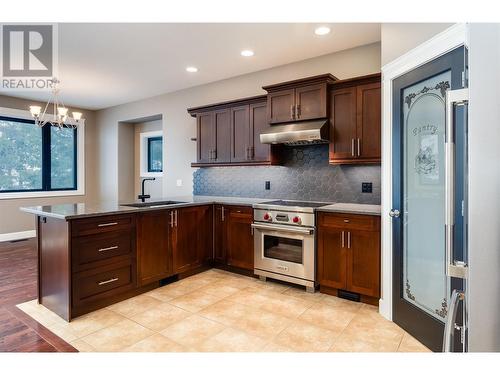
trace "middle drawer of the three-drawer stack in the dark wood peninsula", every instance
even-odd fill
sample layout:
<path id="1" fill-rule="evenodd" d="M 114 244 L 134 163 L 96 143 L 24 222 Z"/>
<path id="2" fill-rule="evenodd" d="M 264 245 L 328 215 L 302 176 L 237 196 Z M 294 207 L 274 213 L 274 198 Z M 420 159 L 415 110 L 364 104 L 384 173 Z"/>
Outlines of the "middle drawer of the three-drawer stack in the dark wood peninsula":
<path id="1" fill-rule="evenodd" d="M 133 236 L 130 231 L 113 231 L 76 237 L 72 242 L 73 266 L 78 268 L 120 255 L 131 255 L 132 241 Z"/>

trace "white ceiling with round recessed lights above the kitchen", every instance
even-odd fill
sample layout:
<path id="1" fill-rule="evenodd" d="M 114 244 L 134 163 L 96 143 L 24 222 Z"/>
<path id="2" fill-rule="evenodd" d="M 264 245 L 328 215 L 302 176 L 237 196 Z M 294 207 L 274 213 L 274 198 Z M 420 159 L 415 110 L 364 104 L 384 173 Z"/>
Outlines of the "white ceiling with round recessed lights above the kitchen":
<path id="1" fill-rule="evenodd" d="M 380 41 L 380 24 L 60 24 L 67 105 L 101 109 Z M 252 49 L 250 58 L 240 56 Z M 186 66 L 196 66 L 188 73 Z M 13 95 L 12 92 L 6 93 Z M 45 92 L 15 96 L 47 100 Z"/>

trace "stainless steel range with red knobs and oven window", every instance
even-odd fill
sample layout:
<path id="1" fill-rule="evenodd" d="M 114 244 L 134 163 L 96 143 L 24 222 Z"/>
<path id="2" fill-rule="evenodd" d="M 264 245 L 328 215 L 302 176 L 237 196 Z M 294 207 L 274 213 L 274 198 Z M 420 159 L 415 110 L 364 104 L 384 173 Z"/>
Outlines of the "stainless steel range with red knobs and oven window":
<path id="1" fill-rule="evenodd" d="M 284 200 L 254 204 L 254 273 L 263 280 L 288 281 L 314 292 L 314 209 L 328 204 Z"/>

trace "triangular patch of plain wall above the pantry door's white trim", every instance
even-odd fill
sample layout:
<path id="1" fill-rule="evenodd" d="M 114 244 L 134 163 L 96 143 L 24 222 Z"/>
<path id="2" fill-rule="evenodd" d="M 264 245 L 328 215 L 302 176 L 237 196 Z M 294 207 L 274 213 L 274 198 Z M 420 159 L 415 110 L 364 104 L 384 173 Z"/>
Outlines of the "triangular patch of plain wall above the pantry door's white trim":
<path id="1" fill-rule="evenodd" d="M 452 23 L 383 23 L 381 27 L 381 64 L 391 62 L 427 39 L 439 34 Z"/>

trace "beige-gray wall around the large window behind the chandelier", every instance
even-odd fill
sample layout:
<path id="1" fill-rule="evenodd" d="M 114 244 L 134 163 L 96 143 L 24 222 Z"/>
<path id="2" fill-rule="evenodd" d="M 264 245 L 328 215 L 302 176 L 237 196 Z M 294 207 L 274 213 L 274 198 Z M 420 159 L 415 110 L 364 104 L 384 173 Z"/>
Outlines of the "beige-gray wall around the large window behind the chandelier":
<path id="1" fill-rule="evenodd" d="M 35 101 L 0 95 L 0 107 L 28 110 Z M 45 105 L 45 103 L 40 103 Z M 77 108 L 71 107 L 70 109 Z M 85 118 L 85 195 L 50 198 L 0 199 L 0 234 L 35 229 L 33 215 L 19 210 L 22 206 L 90 202 L 97 197 L 95 112 L 79 110 Z"/>

